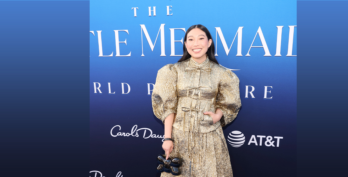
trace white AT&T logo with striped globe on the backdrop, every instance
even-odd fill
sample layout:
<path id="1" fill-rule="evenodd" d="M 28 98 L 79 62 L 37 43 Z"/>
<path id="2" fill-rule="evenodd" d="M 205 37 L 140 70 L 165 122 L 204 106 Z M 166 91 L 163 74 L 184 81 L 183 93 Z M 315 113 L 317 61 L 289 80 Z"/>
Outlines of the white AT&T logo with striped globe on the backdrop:
<path id="1" fill-rule="evenodd" d="M 259 138 L 259 141 L 256 140 L 256 137 Z M 264 144 L 265 146 L 268 146 L 268 147 L 269 146 L 279 147 L 279 141 L 280 139 L 283 139 L 283 137 L 277 137 L 277 136 L 272 137 L 272 136 L 264 136 L 264 135 L 257 135 L 256 137 L 255 135 L 252 135 L 250 137 L 248 145 L 255 144 L 255 146 L 262 146 L 262 144 Z M 277 143 L 275 143 L 274 139 L 277 139 Z M 235 130 L 228 135 L 227 141 L 233 147 L 240 147 L 245 142 L 245 136 L 242 132 Z"/>

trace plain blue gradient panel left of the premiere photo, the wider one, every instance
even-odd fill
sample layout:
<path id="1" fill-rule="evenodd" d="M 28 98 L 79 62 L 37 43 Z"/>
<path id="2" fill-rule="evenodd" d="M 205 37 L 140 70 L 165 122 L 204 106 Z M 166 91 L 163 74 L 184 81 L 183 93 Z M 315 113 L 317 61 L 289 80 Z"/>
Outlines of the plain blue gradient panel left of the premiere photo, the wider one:
<path id="1" fill-rule="evenodd" d="M 2 176 L 88 174 L 89 1 L 0 1 Z"/>

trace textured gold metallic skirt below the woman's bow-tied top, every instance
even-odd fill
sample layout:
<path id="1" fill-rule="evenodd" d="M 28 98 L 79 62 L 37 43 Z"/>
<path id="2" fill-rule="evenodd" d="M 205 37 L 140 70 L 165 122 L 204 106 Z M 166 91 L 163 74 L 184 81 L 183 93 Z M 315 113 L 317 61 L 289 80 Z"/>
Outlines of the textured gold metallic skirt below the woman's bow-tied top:
<path id="1" fill-rule="evenodd" d="M 185 132 L 173 127 L 174 149 L 170 157 L 180 157 L 180 177 L 233 177 L 230 156 L 222 128 L 208 133 Z M 161 177 L 174 177 L 162 172 Z"/>

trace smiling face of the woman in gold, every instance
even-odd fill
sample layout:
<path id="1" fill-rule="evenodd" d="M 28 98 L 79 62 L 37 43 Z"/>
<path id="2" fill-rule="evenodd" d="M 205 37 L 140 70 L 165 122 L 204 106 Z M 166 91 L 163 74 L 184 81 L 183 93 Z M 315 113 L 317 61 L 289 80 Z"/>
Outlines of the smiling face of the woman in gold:
<path id="1" fill-rule="evenodd" d="M 199 28 L 194 28 L 187 34 L 185 46 L 187 52 L 192 56 L 192 59 L 197 62 L 203 62 L 206 59 L 205 54 L 211 43 L 212 39 L 208 40 L 204 31 Z"/>

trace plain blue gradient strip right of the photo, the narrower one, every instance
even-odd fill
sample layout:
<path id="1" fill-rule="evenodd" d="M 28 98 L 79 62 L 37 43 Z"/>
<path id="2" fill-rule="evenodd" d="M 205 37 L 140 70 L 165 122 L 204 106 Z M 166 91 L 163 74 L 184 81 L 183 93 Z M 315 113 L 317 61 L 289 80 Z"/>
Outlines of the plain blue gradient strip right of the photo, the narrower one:
<path id="1" fill-rule="evenodd" d="M 348 1 L 297 1 L 299 177 L 347 174 L 347 8 Z"/>

